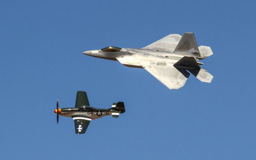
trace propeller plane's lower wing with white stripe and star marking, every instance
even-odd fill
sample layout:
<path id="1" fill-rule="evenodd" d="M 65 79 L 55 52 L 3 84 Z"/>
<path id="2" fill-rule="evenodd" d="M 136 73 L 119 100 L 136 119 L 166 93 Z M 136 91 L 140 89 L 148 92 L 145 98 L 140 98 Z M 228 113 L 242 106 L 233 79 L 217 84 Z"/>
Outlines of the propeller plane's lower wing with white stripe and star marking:
<path id="1" fill-rule="evenodd" d="M 90 117 L 85 116 L 75 116 L 72 118 L 75 122 L 76 134 L 84 134 L 92 120 Z"/>

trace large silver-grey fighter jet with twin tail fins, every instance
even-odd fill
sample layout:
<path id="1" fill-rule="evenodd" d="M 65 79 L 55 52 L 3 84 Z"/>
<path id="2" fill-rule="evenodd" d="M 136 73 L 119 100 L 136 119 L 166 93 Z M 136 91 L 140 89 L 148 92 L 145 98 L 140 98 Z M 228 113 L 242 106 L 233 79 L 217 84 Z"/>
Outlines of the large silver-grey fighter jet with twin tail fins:
<path id="1" fill-rule="evenodd" d="M 101 50 L 83 52 L 88 56 L 118 60 L 124 66 L 144 68 L 169 89 L 179 89 L 190 73 L 201 82 L 210 83 L 213 76 L 200 67 L 202 60 L 211 56 L 208 46 L 197 46 L 194 33 L 183 36 L 170 34 L 144 48 L 118 48 L 109 46 Z M 190 73 L 189 73 L 190 72 Z"/>

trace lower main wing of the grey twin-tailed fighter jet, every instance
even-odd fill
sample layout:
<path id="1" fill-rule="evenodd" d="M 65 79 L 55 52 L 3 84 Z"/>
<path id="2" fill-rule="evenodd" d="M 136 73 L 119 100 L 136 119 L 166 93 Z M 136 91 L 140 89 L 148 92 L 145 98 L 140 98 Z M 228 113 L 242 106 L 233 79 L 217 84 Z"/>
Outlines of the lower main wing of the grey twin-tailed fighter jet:
<path id="1" fill-rule="evenodd" d="M 179 89 L 185 85 L 190 73 L 174 66 L 150 65 L 144 68 L 169 89 Z"/>

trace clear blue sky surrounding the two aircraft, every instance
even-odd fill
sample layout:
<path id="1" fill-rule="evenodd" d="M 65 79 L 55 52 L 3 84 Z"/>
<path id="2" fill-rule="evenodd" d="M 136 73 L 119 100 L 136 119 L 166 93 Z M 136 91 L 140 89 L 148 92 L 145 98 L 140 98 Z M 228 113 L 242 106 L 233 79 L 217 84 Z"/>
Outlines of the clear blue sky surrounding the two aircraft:
<path id="1" fill-rule="evenodd" d="M 10 1 L 0 3 L 0 159 L 256 159 L 255 1 Z M 213 76 L 169 90 L 146 70 L 82 54 L 142 48 L 194 32 Z M 76 91 L 90 104 L 123 101 L 118 119 L 76 135 L 60 117 Z"/>

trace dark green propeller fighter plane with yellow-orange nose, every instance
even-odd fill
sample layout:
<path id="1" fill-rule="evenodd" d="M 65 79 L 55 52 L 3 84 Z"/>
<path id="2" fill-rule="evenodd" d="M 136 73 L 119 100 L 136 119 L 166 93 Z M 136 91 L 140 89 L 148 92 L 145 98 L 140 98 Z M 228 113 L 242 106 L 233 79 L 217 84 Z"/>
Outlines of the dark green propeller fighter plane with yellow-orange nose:
<path id="1" fill-rule="evenodd" d="M 125 112 L 125 108 L 124 102 L 113 103 L 110 109 L 94 108 L 90 106 L 86 92 L 77 91 L 75 108 L 59 108 L 59 101 L 57 100 L 57 109 L 54 112 L 57 114 L 57 123 L 59 122 L 59 114 L 72 117 L 75 122 L 76 134 L 83 134 L 91 120 L 108 115 L 118 118 L 120 113 Z"/>

